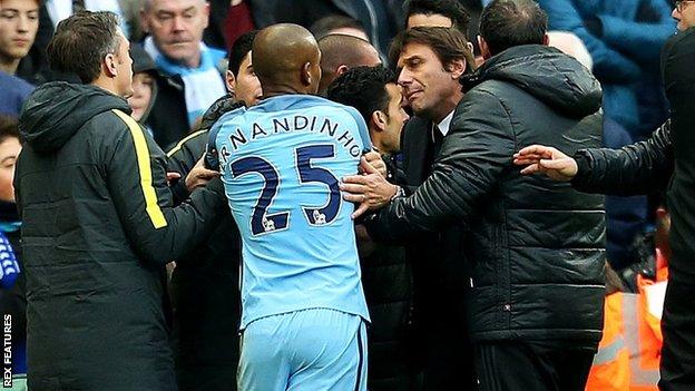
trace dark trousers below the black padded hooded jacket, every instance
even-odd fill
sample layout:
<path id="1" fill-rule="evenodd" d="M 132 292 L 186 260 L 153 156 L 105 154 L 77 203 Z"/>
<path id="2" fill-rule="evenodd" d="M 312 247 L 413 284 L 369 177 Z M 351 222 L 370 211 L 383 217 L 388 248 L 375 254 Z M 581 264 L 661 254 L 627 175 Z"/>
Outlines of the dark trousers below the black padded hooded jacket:
<path id="1" fill-rule="evenodd" d="M 594 354 L 588 349 L 527 342 L 476 345 L 480 391 L 584 391 Z"/>

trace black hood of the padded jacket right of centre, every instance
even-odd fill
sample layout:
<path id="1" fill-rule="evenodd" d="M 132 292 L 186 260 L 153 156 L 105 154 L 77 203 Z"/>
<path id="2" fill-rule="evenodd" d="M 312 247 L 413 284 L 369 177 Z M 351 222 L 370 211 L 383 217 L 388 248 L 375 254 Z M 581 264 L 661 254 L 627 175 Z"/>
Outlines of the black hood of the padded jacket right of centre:
<path id="1" fill-rule="evenodd" d="M 579 61 L 540 45 L 509 48 L 461 78 L 464 89 L 486 80 L 501 80 L 531 94 L 569 117 L 586 117 L 601 105 L 598 80 Z"/>

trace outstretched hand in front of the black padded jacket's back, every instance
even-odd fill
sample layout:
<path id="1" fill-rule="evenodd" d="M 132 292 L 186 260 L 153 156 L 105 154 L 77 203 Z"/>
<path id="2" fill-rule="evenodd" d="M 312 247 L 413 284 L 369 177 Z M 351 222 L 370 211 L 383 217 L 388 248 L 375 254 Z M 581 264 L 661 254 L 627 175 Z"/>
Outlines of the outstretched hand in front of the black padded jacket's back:
<path id="1" fill-rule="evenodd" d="M 521 174 L 546 174 L 548 177 L 569 182 L 577 175 L 577 162 L 560 150 L 544 145 L 531 145 L 522 148 L 513 156 L 513 164 L 527 166 Z"/>

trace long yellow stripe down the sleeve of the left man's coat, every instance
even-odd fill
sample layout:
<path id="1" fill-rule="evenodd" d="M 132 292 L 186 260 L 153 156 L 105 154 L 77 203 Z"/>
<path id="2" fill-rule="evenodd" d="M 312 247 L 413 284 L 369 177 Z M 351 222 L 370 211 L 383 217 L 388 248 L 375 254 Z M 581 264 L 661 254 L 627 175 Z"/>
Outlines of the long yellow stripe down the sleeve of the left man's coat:
<path id="1" fill-rule="evenodd" d="M 164 213 L 161 213 L 161 208 L 157 203 L 157 193 L 155 193 L 155 187 L 153 186 L 151 179 L 151 167 L 149 165 L 149 148 L 147 147 L 147 140 L 145 140 L 145 135 L 143 134 L 143 129 L 133 119 L 133 117 L 127 114 L 112 109 L 120 119 L 128 126 L 130 129 L 130 135 L 133 136 L 133 141 L 135 143 L 135 155 L 137 156 L 138 168 L 140 172 L 140 187 L 143 187 L 143 195 L 145 196 L 145 205 L 147 215 L 149 215 L 149 219 L 153 222 L 155 228 L 161 228 L 167 226 L 166 218 L 164 217 Z"/>

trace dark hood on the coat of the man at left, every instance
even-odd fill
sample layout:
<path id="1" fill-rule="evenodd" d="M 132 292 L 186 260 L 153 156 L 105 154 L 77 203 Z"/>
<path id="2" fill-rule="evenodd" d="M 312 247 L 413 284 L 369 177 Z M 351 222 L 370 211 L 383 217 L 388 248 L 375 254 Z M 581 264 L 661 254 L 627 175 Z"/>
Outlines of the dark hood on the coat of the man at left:
<path id="1" fill-rule="evenodd" d="M 19 134 L 33 150 L 53 151 L 94 116 L 111 109 L 130 114 L 125 99 L 99 87 L 48 82 L 27 98 L 19 117 Z"/>

